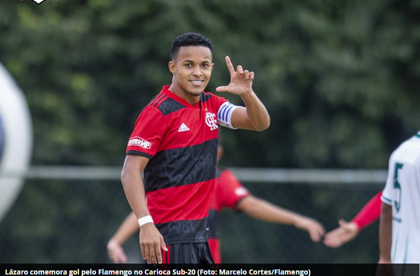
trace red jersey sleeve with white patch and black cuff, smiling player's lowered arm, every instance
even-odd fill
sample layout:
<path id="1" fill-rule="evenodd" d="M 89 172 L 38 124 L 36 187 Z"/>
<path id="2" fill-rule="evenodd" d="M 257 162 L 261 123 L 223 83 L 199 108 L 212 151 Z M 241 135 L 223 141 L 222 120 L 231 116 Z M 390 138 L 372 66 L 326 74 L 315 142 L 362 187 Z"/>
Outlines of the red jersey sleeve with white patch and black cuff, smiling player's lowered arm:
<path id="1" fill-rule="evenodd" d="M 136 120 L 126 153 L 152 158 L 159 148 L 165 129 L 166 122 L 162 113 L 157 108 L 145 107 Z"/>

